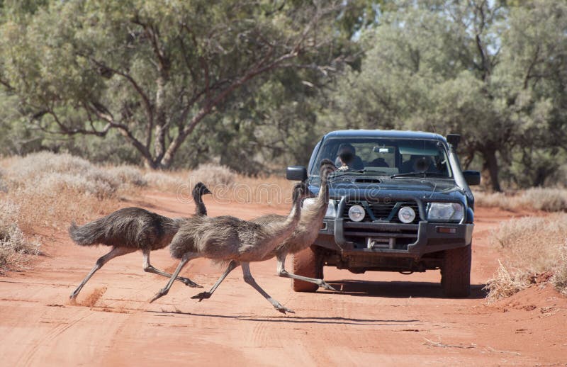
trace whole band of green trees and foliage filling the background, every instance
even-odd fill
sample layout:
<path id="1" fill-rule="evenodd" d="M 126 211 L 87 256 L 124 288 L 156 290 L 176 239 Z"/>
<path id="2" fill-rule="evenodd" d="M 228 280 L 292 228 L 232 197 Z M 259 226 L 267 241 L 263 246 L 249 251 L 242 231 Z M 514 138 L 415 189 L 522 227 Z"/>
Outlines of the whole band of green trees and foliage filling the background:
<path id="1" fill-rule="evenodd" d="M 490 186 L 562 181 L 567 4 L 0 1 L 0 154 L 247 174 L 332 129 L 457 132 Z"/>

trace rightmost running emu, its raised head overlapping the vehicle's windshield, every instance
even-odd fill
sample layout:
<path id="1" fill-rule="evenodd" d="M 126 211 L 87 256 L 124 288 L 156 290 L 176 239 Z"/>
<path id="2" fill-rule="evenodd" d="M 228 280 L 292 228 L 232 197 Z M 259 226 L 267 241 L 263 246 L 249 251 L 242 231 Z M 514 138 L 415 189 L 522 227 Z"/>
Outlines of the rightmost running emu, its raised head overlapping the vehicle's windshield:
<path id="1" fill-rule="evenodd" d="M 273 251 L 266 254 L 264 259 L 259 260 L 263 261 L 276 256 L 276 259 L 278 260 L 278 275 L 284 278 L 292 278 L 299 281 L 314 283 L 314 288 L 308 288 L 308 290 L 317 290 L 318 287 L 321 287 L 336 291 L 335 288 L 327 284 L 327 282 L 323 281 L 322 279 L 308 278 L 306 276 L 298 276 L 293 273 L 288 273 L 285 268 L 286 256 L 288 254 L 296 254 L 303 249 L 307 249 L 311 244 L 313 244 L 313 242 L 315 242 L 315 239 L 319 234 L 319 229 L 322 226 L 322 220 L 325 217 L 325 213 L 327 212 L 327 206 L 329 205 L 329 186 L 327 183 L 327 177 L 336 169 L 337 168 L 335 167 L 335 164 L 333 164 L 330 159 L 323 159 L 321 161 L 321 185 L 315 203 L 310 208 L 303 208 L 303 210 L 301 211 L 301 220 L 299 221 L 296 230 L 293 232 L 293 235 L 285 239 L 281 243 L 281 245 L 276 247 Z M 253 219 L 252 222 L 258 223 L 260 225 L 267 225 L 271 222 L 281 221 L 284 218 L 285 217 L 283 217 L 283 215 L 269 214 L 262 215 L 262 217 Z M 198 299 L 200 301 L 206 298 L 210 298 L 210 296 L 215 292 L 215 289 L 220 285 L 220 283 L 223 282 L 226 276 L 228 276 L 228 273 L 230 273 L 230 271 L 235 269 L 237 266 L 238 265 L 235 261 L 230 261 L 223 275 L 220 276 L 218 281 L 212 288 L 210 288 L 208 292 L 201 292 L 198 295 L 193 295 L 193 297 L 191 298 Z"/>

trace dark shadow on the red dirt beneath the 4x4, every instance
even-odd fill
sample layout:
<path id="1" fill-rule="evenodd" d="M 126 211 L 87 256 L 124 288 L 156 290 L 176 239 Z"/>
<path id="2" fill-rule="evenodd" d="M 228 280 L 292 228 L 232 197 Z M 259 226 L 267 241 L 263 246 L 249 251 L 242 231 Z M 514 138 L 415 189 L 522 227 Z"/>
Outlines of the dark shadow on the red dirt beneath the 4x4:
<path id="1" fill-rule="evenodd" d="M 354 295 L 359 297 L 386 298 L 447 298 L 443 295 L 440 283 L 415 281 L 359 281 L 342 279 L 327 281 L 335 289 L 337 295 Z M 485 284 L 472 284 L 471 295 L 467 299 L 485 298 L 488 292 Z"/>

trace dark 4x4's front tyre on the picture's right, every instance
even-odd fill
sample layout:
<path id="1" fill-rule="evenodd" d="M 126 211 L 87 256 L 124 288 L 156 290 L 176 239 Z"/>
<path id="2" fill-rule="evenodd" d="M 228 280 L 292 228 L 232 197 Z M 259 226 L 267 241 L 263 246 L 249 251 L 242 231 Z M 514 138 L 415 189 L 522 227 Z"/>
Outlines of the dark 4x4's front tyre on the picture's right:
<path id="1" fill-rule="evenodd" d="M 471 295 L 471 244 L 445 251 L 441 268 L 443 295 L 451 298 Z"/>

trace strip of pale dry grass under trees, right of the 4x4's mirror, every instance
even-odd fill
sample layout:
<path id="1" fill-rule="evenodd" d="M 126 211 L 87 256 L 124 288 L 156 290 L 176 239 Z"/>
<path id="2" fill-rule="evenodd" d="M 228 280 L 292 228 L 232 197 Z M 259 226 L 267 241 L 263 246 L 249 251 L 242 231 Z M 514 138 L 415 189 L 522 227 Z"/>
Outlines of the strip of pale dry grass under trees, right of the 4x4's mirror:
<path id="1" fill-rule="evenodd" d="M 505 210 L 530 209 L 546 212 L 567 212 L 567 190 L 561 188 L 529 188 L 516 193 L 474 193 L 475 203 L 486 208 Z"/>

